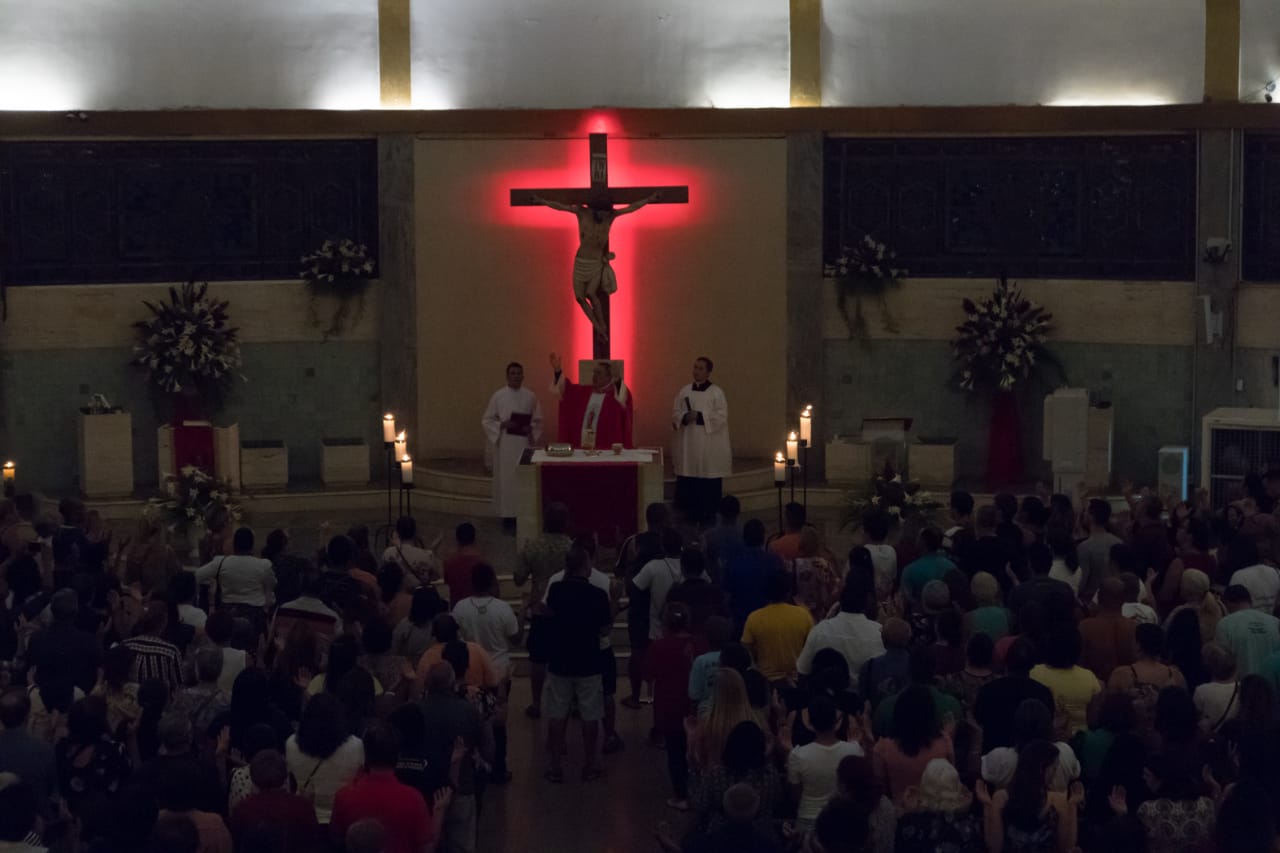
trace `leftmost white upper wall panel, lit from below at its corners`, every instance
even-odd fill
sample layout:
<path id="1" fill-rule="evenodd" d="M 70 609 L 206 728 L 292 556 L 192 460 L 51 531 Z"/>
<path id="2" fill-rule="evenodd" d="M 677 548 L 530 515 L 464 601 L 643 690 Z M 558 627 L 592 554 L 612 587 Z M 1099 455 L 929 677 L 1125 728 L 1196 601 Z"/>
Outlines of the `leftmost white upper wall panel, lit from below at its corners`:
<path id="1" fill-rule="evenodd" d="M 367 109 L 378 0 L 0 0 L 0 109 Z"/>

